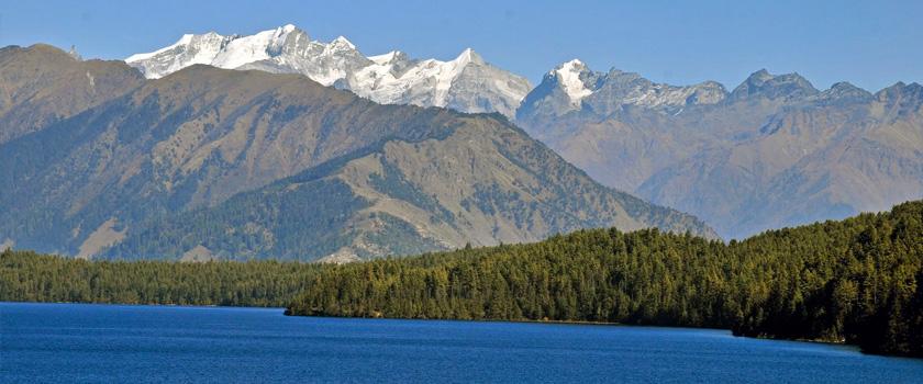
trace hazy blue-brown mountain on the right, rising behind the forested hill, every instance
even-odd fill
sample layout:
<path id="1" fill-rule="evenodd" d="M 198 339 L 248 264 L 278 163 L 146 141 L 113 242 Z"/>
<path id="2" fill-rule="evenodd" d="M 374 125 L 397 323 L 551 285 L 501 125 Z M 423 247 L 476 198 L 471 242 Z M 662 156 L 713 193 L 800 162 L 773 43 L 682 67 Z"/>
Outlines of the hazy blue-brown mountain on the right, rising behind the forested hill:
<path id="1" fill-rule="evenodd" d="M 585 79 L 577 103 L 564 102 L 566 68 Z M 819 91 L 760 70 L 727 92 L 571 61 L 526 97 L 518 123 L 594 179 L 739 238 L 923 196 L 919 89 Z"/>

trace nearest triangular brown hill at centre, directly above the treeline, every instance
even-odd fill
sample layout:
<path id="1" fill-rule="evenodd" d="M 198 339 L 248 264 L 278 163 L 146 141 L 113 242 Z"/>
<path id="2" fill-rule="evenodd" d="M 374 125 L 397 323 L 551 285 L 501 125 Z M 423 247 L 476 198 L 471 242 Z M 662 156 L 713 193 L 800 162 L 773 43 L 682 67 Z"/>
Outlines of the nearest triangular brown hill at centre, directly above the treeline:
<path id="1" fill-rule="evenodd" d="M 105 255 L 343 262 L 607 225 L 714 236 L 690 216 L 592 182 L 502 120 L 465 117 L 447 135 L 388 140 L 173 217 Z"/>

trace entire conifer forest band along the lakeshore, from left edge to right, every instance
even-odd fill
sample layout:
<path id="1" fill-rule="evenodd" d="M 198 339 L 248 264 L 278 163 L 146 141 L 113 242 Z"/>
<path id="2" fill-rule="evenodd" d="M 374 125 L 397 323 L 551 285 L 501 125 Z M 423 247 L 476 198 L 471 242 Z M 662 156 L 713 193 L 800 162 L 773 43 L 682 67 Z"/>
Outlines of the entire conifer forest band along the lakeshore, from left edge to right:
<path id="1" fill-rule="evenodd" d="M 923 357 L 923 202 L 724 244 L 645 229 L 323 266 L 0 253 L 0 300 L 710 327 Z"/>

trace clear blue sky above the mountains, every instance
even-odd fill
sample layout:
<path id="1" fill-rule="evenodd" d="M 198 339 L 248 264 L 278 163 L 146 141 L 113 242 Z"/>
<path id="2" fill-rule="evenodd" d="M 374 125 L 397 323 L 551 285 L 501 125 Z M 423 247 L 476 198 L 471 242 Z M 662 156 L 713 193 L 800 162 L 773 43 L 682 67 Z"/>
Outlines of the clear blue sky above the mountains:
<path id="1" fill-rule="evenodd" d="M 580 58 L 675 84 L 736 87 L 760 68 L 818 88 L 923 82 L 923 1 L 0 1 L 0 45 L 71 44 L 124 58 L 184 33 L 252 34 L 292 23 L 364 54 L 451 59 L 472 47 L 533 82 Z"/>

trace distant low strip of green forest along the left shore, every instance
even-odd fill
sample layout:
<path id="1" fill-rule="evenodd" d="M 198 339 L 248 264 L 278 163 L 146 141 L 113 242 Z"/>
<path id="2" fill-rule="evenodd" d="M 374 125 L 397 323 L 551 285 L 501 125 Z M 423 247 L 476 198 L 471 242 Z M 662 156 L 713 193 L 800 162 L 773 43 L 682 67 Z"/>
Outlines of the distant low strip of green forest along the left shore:
<path id="1" fill-rule="evenodd" d="M 0 252 L 0 301 L 288 305 L 319 264 L 278 261 L 86 261 Z"/>

